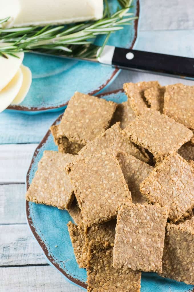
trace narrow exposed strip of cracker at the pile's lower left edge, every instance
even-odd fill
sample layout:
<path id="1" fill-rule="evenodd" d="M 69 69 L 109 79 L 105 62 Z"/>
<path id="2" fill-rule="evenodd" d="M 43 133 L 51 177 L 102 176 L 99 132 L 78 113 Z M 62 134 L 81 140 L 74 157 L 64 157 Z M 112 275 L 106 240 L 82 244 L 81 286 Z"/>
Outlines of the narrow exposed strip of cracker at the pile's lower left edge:
<path id="1" fill-rule="evenodd" d="M 83 232 L 83 227 L 73 224 L 71 221 L 67 224 L 68 231 L 70 234 L 70 239 L 72 242 L 76 262 L 80 268 L 85 268 L 87 266 L 86 259 L 88 250 L 85 245 L 85 236 Z"/>

